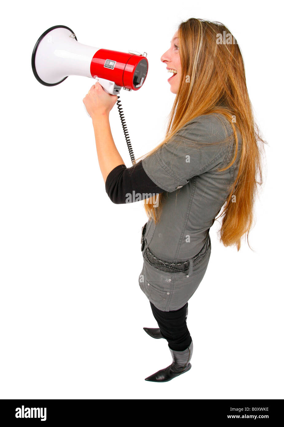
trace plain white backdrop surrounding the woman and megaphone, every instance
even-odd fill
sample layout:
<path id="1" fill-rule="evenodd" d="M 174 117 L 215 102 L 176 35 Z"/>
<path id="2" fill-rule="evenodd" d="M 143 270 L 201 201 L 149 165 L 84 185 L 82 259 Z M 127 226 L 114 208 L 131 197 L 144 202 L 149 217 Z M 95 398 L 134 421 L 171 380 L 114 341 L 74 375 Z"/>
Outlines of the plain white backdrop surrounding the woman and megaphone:
<path id="1" fill-rule="evenodd" d="M 13 2 L 1 6 L 0 366 L 2 399 L 283 398 L 283 70 L 281 3 Z M 224 23 L 240 45 L 266 146 L 249 249 L 211 228 L 207 272 L 189 300 L 192 369 L 157 385 L 172 362 L 138 278 L 142 202 L 105 192 L 82 99 L 92 79 L 41 85 L 33 47 L 54 25 L 79 43 L 147 52 L 139 91 L 120 92 L 136 158 L 161 142 L 175 95 L 161 55 L 181 20 Z M 276 20 L 275 20 L 276 17 Z M 280 59 L 279 59 L 280 58 Z M 131 166 L 117 105 L 112 135 Z M 267 175 L 267 178 L 266 178 Z"/>

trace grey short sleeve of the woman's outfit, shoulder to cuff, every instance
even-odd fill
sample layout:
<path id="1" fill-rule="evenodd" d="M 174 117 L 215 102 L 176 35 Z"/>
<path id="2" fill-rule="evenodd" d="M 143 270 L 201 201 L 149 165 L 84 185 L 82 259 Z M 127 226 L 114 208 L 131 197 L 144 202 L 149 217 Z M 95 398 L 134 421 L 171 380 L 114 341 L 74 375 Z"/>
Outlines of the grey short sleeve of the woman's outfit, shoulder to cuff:
<path id="1" fill-rule="evenodd" d="M 168 192 L 175 191 L 193 176 L 218 167 L 226 155 L 232 133 L 221 114 L 196 117 L 156 152 L 144 158 L 143 169 L 156 185 Z M 194 145 L 195 142 L 198 144 Z"/>

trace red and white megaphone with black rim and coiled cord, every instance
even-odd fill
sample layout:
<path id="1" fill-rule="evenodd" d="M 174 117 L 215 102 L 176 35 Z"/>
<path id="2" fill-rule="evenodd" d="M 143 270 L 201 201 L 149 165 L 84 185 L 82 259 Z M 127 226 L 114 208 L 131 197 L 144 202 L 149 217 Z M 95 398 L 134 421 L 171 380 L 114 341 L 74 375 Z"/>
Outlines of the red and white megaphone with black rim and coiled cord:
<path id="1" fill-rule="evenodd" d="M 143 55 L 131 50 L 125 53 L 81 44 L 69 27 L 56 25 L 47 29 L 36 42 L 32 52 L 32 71 L 44 86 L 59 85 L 71 75 L 86 76 L 96 79 L 109 94 L 118 96 L 121 88 L 138 91 L 143 86 L 148 73 L 146 56 L 146 52 Z M 119 102 L 120 120 L 134 163 Z"/>

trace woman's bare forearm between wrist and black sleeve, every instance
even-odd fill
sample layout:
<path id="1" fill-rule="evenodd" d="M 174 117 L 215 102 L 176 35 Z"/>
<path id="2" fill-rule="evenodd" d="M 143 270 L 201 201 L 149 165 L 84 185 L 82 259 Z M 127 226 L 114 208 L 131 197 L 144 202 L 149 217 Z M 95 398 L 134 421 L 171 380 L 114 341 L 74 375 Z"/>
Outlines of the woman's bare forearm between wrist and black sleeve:
<path id="1" fill-rule="evenodd" d="M 92 121 L 94 126 L 98 161 L 102 178 L 105 182 L 111 170 L 113 170 L 116 166 L 125 163 L 115 146 L 109 124 L 109 115 L 96 114 L 96 116 L 92 118 Z"/>

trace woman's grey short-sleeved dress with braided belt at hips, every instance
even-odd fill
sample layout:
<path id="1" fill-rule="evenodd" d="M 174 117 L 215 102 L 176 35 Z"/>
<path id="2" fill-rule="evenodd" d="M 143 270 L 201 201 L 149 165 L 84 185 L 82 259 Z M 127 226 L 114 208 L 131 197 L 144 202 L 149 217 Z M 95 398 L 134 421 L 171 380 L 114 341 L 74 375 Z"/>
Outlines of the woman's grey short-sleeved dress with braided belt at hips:
<path id="1" fill-rule="evenodd" d="M 242 141 L 238 131 L 237 135 L 237 158 L 223 172 L 217 169 L 230 163 L 235 144 L 230 123 L 218 113 L 191 120 L 142 160 L 149 178 L 166 191 L 160 221 L 147 221 L 141 235 L 139 286 L 159 310 L 183 307 L 205 275 L 211 254 L 209 229 L 238 173 Z M 194 147 L 190 141 L 201 145 Z M 213 142 L 220 144 L 202 145 Z"/>

